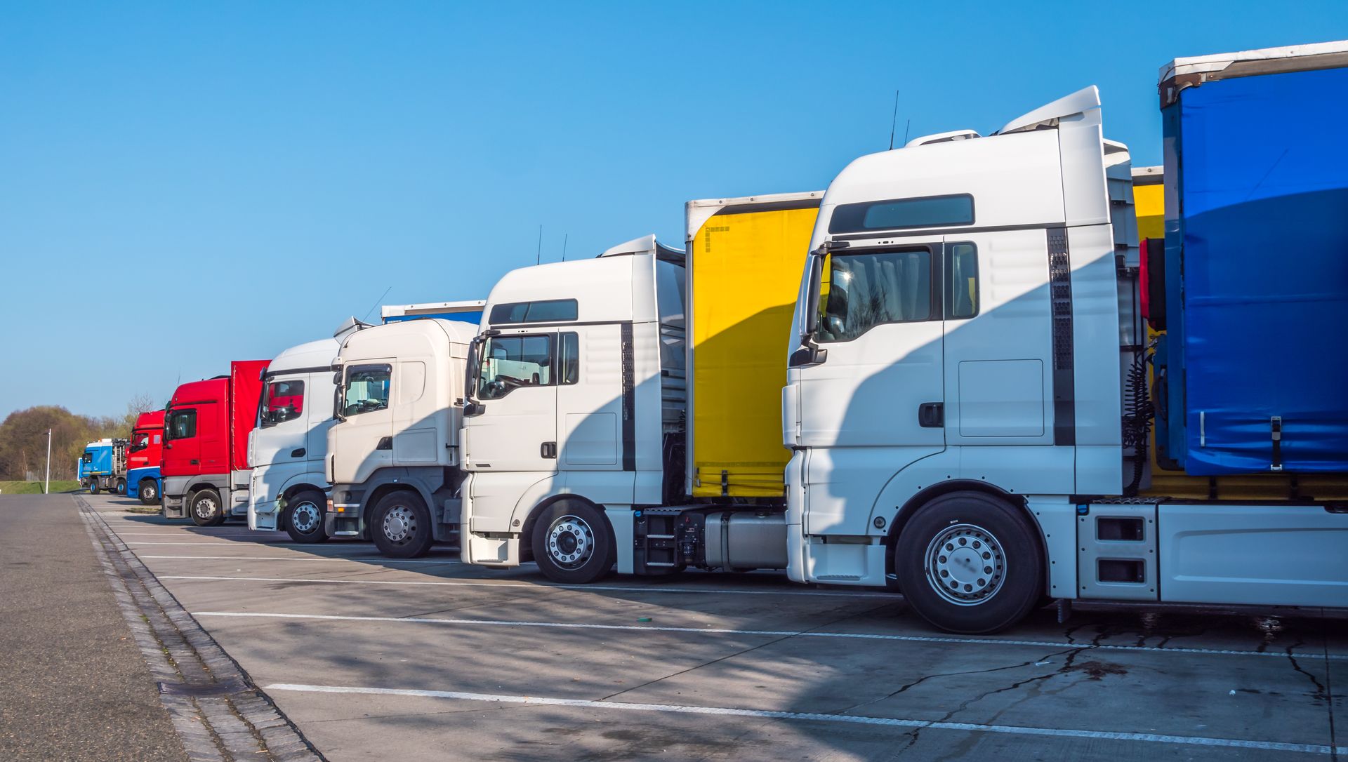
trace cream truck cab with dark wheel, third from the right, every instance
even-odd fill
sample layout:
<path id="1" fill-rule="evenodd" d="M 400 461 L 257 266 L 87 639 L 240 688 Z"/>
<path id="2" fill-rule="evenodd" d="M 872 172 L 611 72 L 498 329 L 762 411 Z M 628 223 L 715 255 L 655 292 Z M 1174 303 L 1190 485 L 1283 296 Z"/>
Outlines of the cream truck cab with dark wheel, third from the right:
<path id="1" fill-rule="evenodd" d="M 461 320 L 419 318 L 341 342 L 329 372 L 337 384 L 324 518 L 330 537 L 368 532 L 391 557 L 422 556 L 453 539 L 464 366 L 474 333 Z"/>

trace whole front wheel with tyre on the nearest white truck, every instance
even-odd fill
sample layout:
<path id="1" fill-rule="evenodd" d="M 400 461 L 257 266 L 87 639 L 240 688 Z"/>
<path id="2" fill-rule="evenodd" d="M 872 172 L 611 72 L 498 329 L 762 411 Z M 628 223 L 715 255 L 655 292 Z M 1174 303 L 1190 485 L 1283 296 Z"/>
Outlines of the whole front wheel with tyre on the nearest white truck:
<path id="1" fill-rule="evenodd" d="M 985 493 L 937 497 L 909 520 L 894 574 L 919 617 L 968 635 L 1004 630 L 1043 595 L 1038 530 Z"/>

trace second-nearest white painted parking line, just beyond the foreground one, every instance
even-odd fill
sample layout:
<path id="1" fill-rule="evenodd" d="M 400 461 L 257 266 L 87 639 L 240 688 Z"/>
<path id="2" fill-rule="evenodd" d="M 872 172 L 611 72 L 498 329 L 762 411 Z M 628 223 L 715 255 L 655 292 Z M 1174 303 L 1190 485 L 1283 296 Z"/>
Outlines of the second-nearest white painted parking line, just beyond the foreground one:
<path id="1" fill-rule="evenodd" d="M 891 635 L 884 633 L 822 633 L 814 630 L 732 630 L 723 627 L 658 627 L 642 625 L 593 625 L 580 622 L 518 622 L 511 619 L 438 619 L 433 617 L 345 617 L 340 614 L 267 614 L 262 611 L 193 611 L 193 617 L 248 617 L 260 619 L 326 619 L 336 622 L 410 622 L 422 625 L 481 625 L 497 627 L 561 627 L 578 630 L 640 630 L 656 633 L 697 633 L 697 634 L 724 634 L 724 635 L 762 635 L 771 638 L 851 638 L 861 641 L 903 641 L 923 644 L 960 644 L 960 645 L 999 645 L 999 646 L 1035 646 L 1082 650 L 1127 650 L 1148 653 L 1174 654 L 1201 654 L 1201 656 L 1271 656 L 1287 658 L 1286 653 L 1259 652 L 1259 650 L 1228 650 L 1228 649 L 1201 649 L 1201 648 L 1157 648 L 1157 646 L 1124 646 L 1124 645 L 1091 645 L 1066 644 L 1055 641 L 1012 641 L 998 638 L 954 638 L 941 635 Z M 1297 653 L 1297 658 L 1326 658 L 1322 653 Z M 1348 660 L 1348 654 L 1328 654 L 1328 658 Z"/>

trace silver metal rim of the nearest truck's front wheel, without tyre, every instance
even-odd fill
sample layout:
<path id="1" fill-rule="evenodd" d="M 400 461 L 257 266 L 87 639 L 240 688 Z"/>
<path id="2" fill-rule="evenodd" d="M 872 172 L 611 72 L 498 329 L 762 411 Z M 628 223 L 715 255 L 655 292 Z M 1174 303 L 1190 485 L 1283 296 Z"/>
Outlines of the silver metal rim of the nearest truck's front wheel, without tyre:
<path id="1" fill-rule="evenodd" d="M 946 526 L 926 551 L 927 583 L 956 606 L 987 603 L 1007 579 L 1006 552 L 995 534 L 975 524 Z"/>

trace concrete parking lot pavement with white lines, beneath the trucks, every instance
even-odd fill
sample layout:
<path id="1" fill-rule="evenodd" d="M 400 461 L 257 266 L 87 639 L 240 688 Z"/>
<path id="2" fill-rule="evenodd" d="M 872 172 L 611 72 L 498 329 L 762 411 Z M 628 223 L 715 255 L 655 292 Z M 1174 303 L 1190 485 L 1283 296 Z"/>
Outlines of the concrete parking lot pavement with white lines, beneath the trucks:
<path id="1" fill-rule="evenodd" d="M 1042 610 L 958 637 L 883 591 L 774 574 L 558 586 L 127 502 L 90 498 L 329 759 L 1348 754 L 1343 619 Z"/>

